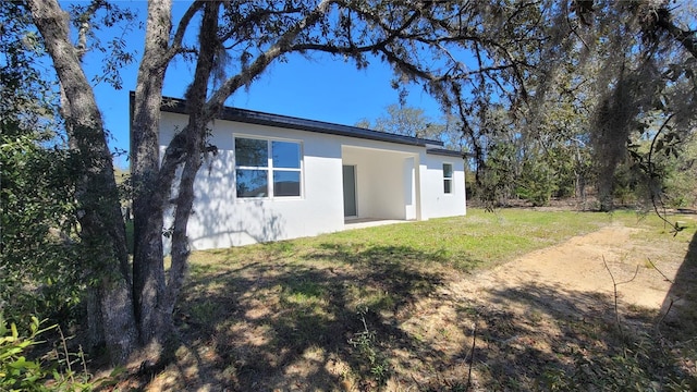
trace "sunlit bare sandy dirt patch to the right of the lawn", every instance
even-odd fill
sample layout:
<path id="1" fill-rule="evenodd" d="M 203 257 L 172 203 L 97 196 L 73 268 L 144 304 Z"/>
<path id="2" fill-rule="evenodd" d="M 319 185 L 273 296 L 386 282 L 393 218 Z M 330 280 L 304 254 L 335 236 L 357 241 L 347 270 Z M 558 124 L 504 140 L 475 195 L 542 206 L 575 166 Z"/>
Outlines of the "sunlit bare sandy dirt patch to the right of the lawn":
<path id="1" fill-rule="evenodd" d="M 673 280 L 680 262 L 662 255 L 661 249 L 647 245 L 640 235 L 638 229 L 603 228 L 479 273 L 474 285 L 467 282 L 466 291 L 480 295 L 492 287 L 537 285 L 566 294 L 613 295 L 614 278 L 622 305 L 659 309 L 671 287 L 662 274 Z"/>

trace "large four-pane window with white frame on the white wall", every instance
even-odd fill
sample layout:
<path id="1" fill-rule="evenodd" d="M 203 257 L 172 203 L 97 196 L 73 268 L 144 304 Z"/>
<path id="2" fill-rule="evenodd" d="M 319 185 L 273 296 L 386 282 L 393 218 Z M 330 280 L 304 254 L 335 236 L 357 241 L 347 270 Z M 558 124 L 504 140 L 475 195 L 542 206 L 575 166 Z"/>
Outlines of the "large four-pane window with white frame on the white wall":
<path id="1" fill-rule="evenodd" d="M 235 137 L 237 197 L 299 197 L 301 144 Z"/>

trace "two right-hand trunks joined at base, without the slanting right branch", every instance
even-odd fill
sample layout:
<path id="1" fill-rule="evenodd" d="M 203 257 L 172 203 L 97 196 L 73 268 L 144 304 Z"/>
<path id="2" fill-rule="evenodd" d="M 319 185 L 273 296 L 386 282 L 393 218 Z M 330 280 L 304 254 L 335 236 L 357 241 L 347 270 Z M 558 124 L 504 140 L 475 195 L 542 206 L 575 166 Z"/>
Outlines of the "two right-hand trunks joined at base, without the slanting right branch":
<path id="1" fill-rule="evenodd" d="M 178 37 L 191 17 L 207 2 L 194 3 L 186 12 L 172 47 L 169 46 L 171 30 L 171 1 L 150 2 L 146 47 L 138 70 L 134 97 L 134 121 L 132 125 L 132 171 L 134 181 L 134 284 L 136 319 L 143 344 L 164 342 L 173 330 L 172 313 L 184 281 L 188 241 L 186 224 L 193 206 L 193 181 L 200 168 L 200 155 L 206 133 L 204 108 L 207 82 L 212 69 L 212 56 L 217 46 L 217 12 L 213 27 L 206 39 L 201 39 L 197 62 L 197 75 L 192 90 L 189 126 L 181 130 L 168 146 L 162 160 L 159 159 L 159 118 L 162 105 L 164 72 L 176 53 Z M 211 5 L 213 7 L 213 5 Z M 215 3 L 215 8 L 219 7 Z M 207 11 L 208 12 L 208 11 Z M 208 24 L 210 25 L 210 21 Z M 208 54 L 210 52 L 210 54 Z M 209 60 L 201 65 L 201 59 Z M 208 71 L 205 71 L 208 69 Z M 199 76 L 200 75 L 200 76 Z M 203 83 L 199 82 L 203 79 Z M 176 169 L 184 164 L 179 183 Z M 176 192 L 172 192 L 173 185 Z M 172 236 L 172 267 L 166 280 L 163 267 L 162 230 L 168 203 L 175 194 L 174 231 Z"/>

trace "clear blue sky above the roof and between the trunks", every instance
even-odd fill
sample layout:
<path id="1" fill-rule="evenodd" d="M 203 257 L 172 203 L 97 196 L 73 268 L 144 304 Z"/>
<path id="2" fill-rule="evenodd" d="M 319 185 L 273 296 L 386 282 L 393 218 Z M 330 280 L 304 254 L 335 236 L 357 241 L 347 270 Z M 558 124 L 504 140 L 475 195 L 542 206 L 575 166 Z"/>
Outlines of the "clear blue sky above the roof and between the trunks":
<path id="1" fill-rule="evenodd" d="M 135 7 L 145 19 L 144 1 L 123 1 L 121 5 Z M 176 15 L 188 2 L 174 2 Z M 112 32 L 101 32 L 107 37 Z M 102 110 L 106 126 L 111 132 L 113 149 L 129 149 L 129 91 L 135 89 L 139 54 L 143 53 L 144 32 L 132 30 L 127 37 L 129 50 L 136 51 L 136 62 L 121 70 L 123 88 L 115 90 L 106 83 L 95 87 L 97 101 Z M 101 53 L 85 59 L 89 76 L 99 72 Z M 174 61 L 167 73 L 164 96 L 181 98 L 192 81 L 194 65 L 182 60 Z M 398 91 L 390 87 L 392 73 L 389 66 L 375 59 L 370 66 L 356 70 L 351 62 L 326 54 L 310 59 L 294 54 L 288 62 L 277 62 L 257 79 L 248 90 L 241 89 L 229 100 L 229 106 L 264 112 L 293 115 L 339 124 L 353 125 L 362 119 L 374 121 L 384 115 L 386 107 L 399 101 Z M 407 105 L 425 110 L 433 120 L 441 117 L 438 103 L 419 86 L 409 89 Z M 126 167 L 125 156 L 117 164 Z"/>

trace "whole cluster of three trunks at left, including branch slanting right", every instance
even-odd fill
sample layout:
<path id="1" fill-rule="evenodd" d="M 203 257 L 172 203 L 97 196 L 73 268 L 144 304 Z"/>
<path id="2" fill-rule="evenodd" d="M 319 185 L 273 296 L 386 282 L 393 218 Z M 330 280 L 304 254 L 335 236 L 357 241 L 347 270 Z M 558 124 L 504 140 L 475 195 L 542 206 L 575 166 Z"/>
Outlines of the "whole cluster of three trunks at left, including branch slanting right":
<path id="1" fill-rule="evenodd" d="M 103 139 L 103 127 L 99 111 L 94 101 L 91 86 L 84 79 L 84 74 L 80 68 L 80 58 L 75 48 L 68 39 L 68 17 L 60 10 L 57 0 L 25 0 L 30 4 L 33 12 L 39 14 L 41 12 L 50 12 L 53 16 L 52 24 L 59 32 L 50 32 L 47 28 L 40 28 L 48 46 L 53 45 L 49 52 L 54 58 L 56 69 L 61 77 L 61 82 L 66 87 L 66 97 L 71 102 L 71 108 L 76 108 L 75 117 L 80 118 L 80 110 L 86 109 L 88 105 L 89 112 L 95 120 L 95 124 L 83 126 L 76 122 L 74 130 L 81 133 L 81 130 L 91 130 L 98 133 L 102 139 L 94 144 L 81 144 L 87 148 L 91 146 L 99 150 L 100 159 L 98 166 L 103 170 L 108 169 L 108 173 L 103 173 L 102 180 L 109 180 L 113 183 L 113 173 L 111 172 L 111 157 Z M 219 111 L 224 100 L 233 94 L 239 87 L 248 85 L 268 66 L 270 62 L 290 50 L 293 40 L 304 29 L 313 26 L 329 9 L 329 1 L 321 1 L 314 11 L 309 12 L 304 19 L 298 21 L 288 32 L 285 32 L 278 41 L 272 45 L 265 53 L 260 54 L 244 72 L 225 81 L 218 90 L 210 96 L 208 101 L 206 98 L 208 81 L 215 64 L 213 59 L 218 50 L 224 50 L 216 37 L 218 11 L 220 2 L 209 4 L 205 1 L 194 2 L 178 25 L 176 33 L 171 36 L 171 0 L 150 1 L 148 2 L 148 22 L 146 27 L 146 42 L 140 66 L 138 69 L 138 78 L 133 100 L 133 122 L 132 122 L 132 179 L 133 179 L 133 212 L 134 212 L 134 258 L 133 258 L 133 282 L 129 278 L 127 254 L 125 249 L 125 241 L 121 246 L 121 236 L 118 231 L 110 228 L 101 228 L 96 225 L 89 226 L 90 223 L 98 221 L 101 217 L 107 217 L 107 222 L 115 222 L 109 213 L 87 213 L 85 217 L 86 229 L 84 235 L 94 236 L 95 242 L 98 238 L 107 238 L 111 242 L 105 246 L 112 245 L 113 252 L 99 252 L 100 266 L 112 266 L 106 262 L 106 258 L 113 257 L 120 261 L 113 267 L 119 273 L 113 273 L 106 267 L 102 269 L 107 272 L 102 279 L 102 290 L 111 290 L 113 292 L 101 293 L 89 302 L 93 309 L 89 318 L 90 326 L 94 327 L 94 336 L 107 341 L 107 339 L 118 340 L 107 341 L 108 344 L 121 344 L 124 350 L 115 351 L 119 353 L 127 353 L 134 345 L 132 336 L 139 338 L 140 344 L 150 342 L 163 342 L 169 332 L 173 329 L 172 311 L 179 295 L 179 291 L 184 281 L 186 270 L 186 259 L 188 256 L 188 243 L 186 237 L 186 225 L 188 216 L 192 211 L 194 199 L 193 183 L 200 168 L 201 154 L 204 150 L 206 124 L 211 121 L 217 111 Z M 200 46 L 198 52 L 198 64 L 196 71 L 196 81 L 192 85 L 187 98 L 189 99 L 188 111 L 191 113 L 189 124 L 186 128 L 178 133 L 167 150 L 160 159 L 159 156 L 159 118 L 162 105 L 162 86 L 167 66 L 172 58 L 181 49 L 181 41 L 185 35 L 186 27 L 191 23 L 193 16 L 206 7 L 204 20 L 201 22 L 201 36 L 199 37 Z M 38 19 L 38 16 L 37 16 Z M 49 19 L 46 19 L 49 21 Z M 50 24 L 44 22 L 45 25 Z M 37 25 L 39 23 L 37 22 Z M 171 44 L 170 44 L 171 40 Z M 62 60 L 60 62 L 58 60 Z M 69 76 L 74 76 L 71 72 L 80 72 L 82 79 L 74 83 Z M 70 91 L 68 90 L 70 89 Z M 88 95 L 87 102 L 83 100 L 80 94 Z M 77 97 L 77 99 L 74 99 Z M 72 110 L 72 109 L 71 109 Z M 91 123 L 89 123 L 91 124 Z M 89 158 L 94 160 L 93 158 Z M 87 159 L 85 159 L 87 162 Z M 90 160 L 91 162 L 91 160 Z M 108 168 L 107 163 L 108 162 Z M 182 167 L 183 172 L 175 184 L 176 169 Z M 85 169 L 87 170 L 87 169 Z M 89 175 L 97 175 L 90 172 Z M 101 175 L 101 174 L 99 174 Z M 97 175 L 97 176 L 99 176 Z M 108 181 L 107 181 L 108 182 Z M 106 183 L 106 182 L 105 182 Z M 111 184 L 109 183 L 109 184 Z M 94 185 L 94 184 L 93 184 Z M 111 185 L 109 185 L 111 186 Z M 96 186 L 89 186 L 89 189 L 99 189 Z M 111 200 L 111 188 L 109 195 L 105 195 L 109 199 L 109 206 L 118 207 L 118 198 Z M 89 193 L 86 193 L 89 194 Z M 100 193 L 95 193 L 100 195 Z M 115 193 L 114 193 L 115 195 Z M 172 269 L 166 274 L 163 267 L 163 246 L 162 246 L 162 229 L 163 215 L 171 203 L 172 195 L 175 197 L 175 217 L 174 232 L 172 241 Z M 115 210 L 119 210 L 118 208 Z M 103 211 L 102 211 L 103 212 Z M 120 218 L 120 217 L 119 217 Z M 119 219 L 123 228 L 123 222 Z M 94 230 L 93 230 L 94 229 Z M 99 232 L 109 231 L 110 236 L 102 235 Z M 91 241 L 90 240 L 90 241 Z M 105 241 L 107 241 L 105 240 Z M 90 241 L 86 243 L 91 244 Z M 94 244 L 93 244 L 94 245 Z M 118 247 L 118 248 L 117 248 Z M 102 260 L 103 259 L 103 260 Z M 120 267 L 120 268 L 117 268 Z M 117 280 L 114 277 L 121 277 Z M 166 280 L 166 277 L 167 280 Z M 124 293 L 124 287 L 127 293 Z M 120 301 L 127 303 L 120 304 Z M 130 319 L 123 322 L 117 322 L 119 329 L 126 331 L 124 335 L 120 330 L 114 330 L 111 322 L 118 320 L 126 320 L 126 318 L 111 317 L 117 313 L 129 314 Z M 135 327 L 133 327 L 135 326 Z M 129 344 L 123 339 L 127 338 Z M 123 357 L 123 355 L 121 355 Z"/>

